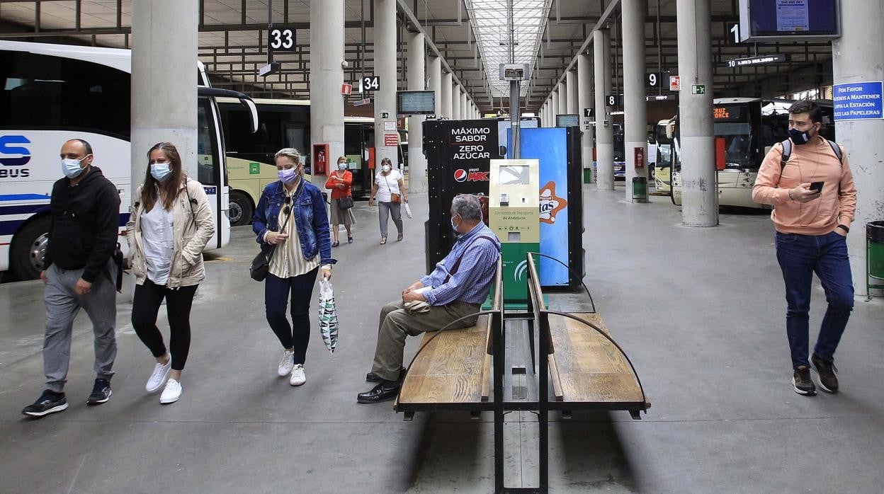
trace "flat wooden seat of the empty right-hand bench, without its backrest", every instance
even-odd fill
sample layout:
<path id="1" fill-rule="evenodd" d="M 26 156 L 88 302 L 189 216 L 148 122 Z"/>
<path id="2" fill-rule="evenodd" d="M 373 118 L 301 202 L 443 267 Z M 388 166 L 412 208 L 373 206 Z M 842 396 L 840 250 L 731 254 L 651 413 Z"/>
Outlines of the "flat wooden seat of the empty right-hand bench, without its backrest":
<path id="1" fill-rule="evenodd" d="M 598 313 L 574 315 L 608 332 Z M 560 400 L 566 402 L 642 402 L 636 376 L 616 346 L 574 319 L 551 314 L 549 322 L 556 348 L 555 369 L 550 369 L 553 390 L 557 377 L 560 386 L 559 391 L 554 391 L 557 399 L 561 394 Z"/>

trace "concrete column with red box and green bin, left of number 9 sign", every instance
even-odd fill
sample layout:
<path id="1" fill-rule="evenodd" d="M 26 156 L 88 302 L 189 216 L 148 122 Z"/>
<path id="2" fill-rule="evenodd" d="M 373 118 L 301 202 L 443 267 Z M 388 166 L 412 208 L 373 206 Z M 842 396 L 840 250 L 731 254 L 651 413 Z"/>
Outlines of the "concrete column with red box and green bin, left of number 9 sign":
<path id="1" fill-rule="evenodd" d="M 648 103 L 644 90 L 644 12 L 646 0 L 623 0 L 623 141 L 626 150 L 626 201 L 647 202 L 647 195 L 633 201 L 632 179 L 648 178 L 645 165 L 636 169 L 635 148 L 643 148 L 648 156 Z M 647 191 L 647 187 L 645 187 Z M 646 194 L 646 192 L 645 192 Z"/>

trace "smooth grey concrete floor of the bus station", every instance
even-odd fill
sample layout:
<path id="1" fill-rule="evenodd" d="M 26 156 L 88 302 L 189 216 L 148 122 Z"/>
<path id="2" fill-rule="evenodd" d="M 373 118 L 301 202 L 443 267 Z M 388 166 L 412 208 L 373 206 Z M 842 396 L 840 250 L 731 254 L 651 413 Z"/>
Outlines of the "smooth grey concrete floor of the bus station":
<path id="1" fill-rule="evenodd" d="M 666 197 L 622 197 L 621 186 L 585 186 L 585 281 L 653 406 L 642 421 L 552 414 L 551 490 L 880 492 L 884 302 L 857 299 L 836 355 L 842 392 L 799 396 L 767 215 L 724 214 L 718 228 L 689 229 Z M 86 407 L 92 338 L 80 315 L 71 406 L 23 418 L 19 410 L 42 390 L 42 285 L 0 285 L 0 492 L 492 491 L 491 414 L 402 422 L 392 402 L 355 403 L 370 388 L 362 379 L 378 309 L 423 270 L 427 206 L 423 194 L 411 198 L 405 241 L 385 246 L 377 209 L 357 202 L 356 242 L 333 251 L 338 350 L 328 353 L 314 331 L 300 388 L 276 376 L 263 286 L 248 278 L 256 249 L 248 228 L 234 229 L 207 263 L 184 395 L 171 406 L 144 393 L 153 359 L 120 297 L 110 402 Z M 813 296 L 816 326 L 825 298 L 819 286 Z M 536 418 L 507 419 L 507 485 L 536 485 Z"/>

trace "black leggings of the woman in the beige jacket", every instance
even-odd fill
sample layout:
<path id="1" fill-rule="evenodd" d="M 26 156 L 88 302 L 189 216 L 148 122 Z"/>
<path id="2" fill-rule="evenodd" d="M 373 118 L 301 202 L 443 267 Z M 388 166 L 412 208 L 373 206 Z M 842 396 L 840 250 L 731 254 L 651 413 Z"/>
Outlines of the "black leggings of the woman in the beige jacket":
<path id="1" fill-rule="evenodd" d="M 184 369 L 187 362 L 187 352 L 190 351 L 190 307 L 194 302 L 197 286 L 171 289 L 165 285 L 156 285 L 149 279 L 144 280 L 144 285 L 135 285 L 132 327 L 155 357 L 162 357 L 166 353 L 163 333 L 156 327 L 156 314 L 163 299 L 166 300 L 172 370 Z"/>

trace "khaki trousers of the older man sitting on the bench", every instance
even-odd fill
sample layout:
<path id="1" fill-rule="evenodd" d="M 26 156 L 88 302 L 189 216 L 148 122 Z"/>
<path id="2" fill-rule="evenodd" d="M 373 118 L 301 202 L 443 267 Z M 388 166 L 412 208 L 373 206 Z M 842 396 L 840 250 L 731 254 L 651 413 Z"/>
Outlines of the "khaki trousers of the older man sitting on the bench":
<path id="1" fill-rule="evenodd" d="M 444 306 L 431 306 L 428 312 L 411 314 L 402 305 L 402 300 L 390 302 L 381 308 L 377 325 L 377 348 L 371 372 L 387 381 L 399 378 L 402 368 L 402 353 L 405 338 L 417 336 L 426 331 L 436 331 L 459 317 L 476 314 L 480 304 L 468 304 L 460 300 Z M 454 323 L 448 329 L 466 328 L 476 324 L 478 316 L 469 317 Z"/>

